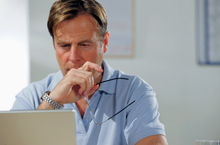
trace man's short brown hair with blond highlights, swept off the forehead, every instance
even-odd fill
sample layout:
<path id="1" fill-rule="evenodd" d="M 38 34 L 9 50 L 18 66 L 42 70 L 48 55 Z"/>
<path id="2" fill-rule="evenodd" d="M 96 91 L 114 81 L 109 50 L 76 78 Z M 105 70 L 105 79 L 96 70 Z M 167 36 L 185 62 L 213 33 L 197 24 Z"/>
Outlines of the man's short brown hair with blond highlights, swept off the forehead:
<path id="1" fill-rule="evenodd" d="M 73 19 L 81 14 L 91 15 L 99 24 L 101 40 L 107 31 L 107 14 L 96 0 L 57 0 L 50 9 L 47 28 L 54 39 L 54 32 L 65 20 Z"/>

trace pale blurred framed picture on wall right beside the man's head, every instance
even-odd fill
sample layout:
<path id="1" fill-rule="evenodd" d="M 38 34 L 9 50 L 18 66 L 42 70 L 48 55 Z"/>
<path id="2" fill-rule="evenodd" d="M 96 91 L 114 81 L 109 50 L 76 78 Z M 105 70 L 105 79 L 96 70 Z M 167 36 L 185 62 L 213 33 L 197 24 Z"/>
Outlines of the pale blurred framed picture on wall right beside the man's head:
<path id="1" fill-rule="evenodd" d="M 97 0 L 106 10 L 110 32 L 107 57 L 132 57 L 135 44 L 135 1 Z"/>

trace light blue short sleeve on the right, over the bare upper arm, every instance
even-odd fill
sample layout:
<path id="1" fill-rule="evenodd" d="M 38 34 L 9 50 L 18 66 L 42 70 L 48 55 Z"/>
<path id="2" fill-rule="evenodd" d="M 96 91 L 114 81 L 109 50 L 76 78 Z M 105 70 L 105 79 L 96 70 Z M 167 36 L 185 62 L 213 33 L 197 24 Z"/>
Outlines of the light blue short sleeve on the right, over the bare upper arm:
<path id="1" fill-rule="evenodd" d="M 151 135 L 165 136 L 164 125 L 159 121 L 158 102 L 153 89 L 138 78 L 132 84 L 130 94 L 130 102 L 135 100 L 135 104 L 127 113 L 124 130 L 127 143 L 134 145 Z"/>

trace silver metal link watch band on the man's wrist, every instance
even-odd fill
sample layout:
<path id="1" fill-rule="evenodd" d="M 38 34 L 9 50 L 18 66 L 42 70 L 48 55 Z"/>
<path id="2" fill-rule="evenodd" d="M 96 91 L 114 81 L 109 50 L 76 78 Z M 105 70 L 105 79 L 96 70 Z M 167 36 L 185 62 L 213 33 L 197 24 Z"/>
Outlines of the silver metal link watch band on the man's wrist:
<path id="1" fill-rule="evenodd" d="M 50 91 L 46 91 L 42 96 L 41 99 L 46 101 L 48 104 L 50 104 L 54 109 L 62 109 L 63 106 L 58 104 L 54 99 L 52 99 L 50 96 Z"/>

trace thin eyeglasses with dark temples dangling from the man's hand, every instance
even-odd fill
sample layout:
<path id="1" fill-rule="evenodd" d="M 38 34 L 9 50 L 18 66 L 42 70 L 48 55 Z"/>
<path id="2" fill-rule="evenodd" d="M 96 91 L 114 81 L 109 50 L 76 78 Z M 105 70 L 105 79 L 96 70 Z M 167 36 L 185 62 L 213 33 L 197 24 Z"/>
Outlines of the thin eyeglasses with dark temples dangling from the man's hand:
<path id="1" fill-rule="evenodd" d="M 102 82 L 99 82 L 97 84 L 101 84 L 101 83 L 105 83 L 105 82 L 108 82 L 108 81 L 112 81 L 112 80 L 117 80 L 117 79 L 123 79 L 123 80 L 128 80 L 128 78 L 113 78 L 113 79 L 109 79 L 109 80 L 105 80 L 105 81 L 102 81 Z M 93 114 L 93 111 L 92 109 L 90 109 L 90 103 L 88 101 L 88 98 L 87 96 L 84 96 L 85 97 L 85 100 L 86 100 L 86 103 L 88 105 L 88 108 L 89 108 L 89 113 L 90 113 L 90 116 L 92 118 L 92 120 L 95 122 L 96 125 L 101 125 L 103 123 L 105 123 L 106 121 L 112 119 L 113 117 L 115 117 L 116 115 L 118 115 L 119 113 L 121 113 L 123 110 L 125 110 L 128 106 L 130 106 L 131 104 L 133 104 L 135 102 L 135 100 L 133 102 L 131 102 L 130 104 L 128 104 L 127 106 L 125 106 L 123 109 L 121 109 L 120 111 L 118 111 L 117 113 L 115 113 L 113 116 L 109 117 L 108 119 L 106 119 L 105 121 L 101 122 L 101 123 L 98 123 L 95 119 L 95 116 Z"/>

